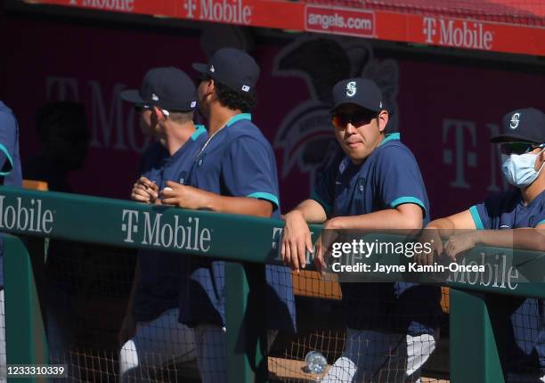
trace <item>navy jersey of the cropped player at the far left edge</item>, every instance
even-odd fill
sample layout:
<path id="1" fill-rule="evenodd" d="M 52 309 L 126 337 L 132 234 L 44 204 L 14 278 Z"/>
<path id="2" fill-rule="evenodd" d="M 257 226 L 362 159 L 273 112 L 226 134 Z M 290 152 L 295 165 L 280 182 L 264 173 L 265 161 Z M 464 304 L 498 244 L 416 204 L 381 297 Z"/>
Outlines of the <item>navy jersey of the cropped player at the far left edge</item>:
<path id="1" fill-rule="evenodd" d="M 0 101 L 0 182 L 6 186 L 22 186 L 19 157 L 19 125 L 4 102 Z M 4 286 L 4 240 L 0 235 L 0 286 Z"/>

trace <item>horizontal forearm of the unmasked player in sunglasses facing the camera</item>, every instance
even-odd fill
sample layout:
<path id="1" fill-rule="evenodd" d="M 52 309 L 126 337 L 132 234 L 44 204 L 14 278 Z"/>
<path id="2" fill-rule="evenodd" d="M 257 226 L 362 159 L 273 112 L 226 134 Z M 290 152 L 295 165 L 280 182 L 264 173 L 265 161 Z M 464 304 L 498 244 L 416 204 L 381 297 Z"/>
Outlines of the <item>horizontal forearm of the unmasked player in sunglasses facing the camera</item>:
<path id="1" fill-rule="evenodd" d="M 418 230 L 422 228 L 421 216 L 407 216 L 396 209 L 380 210 L 361 216 L 338 216 L 328 223 L 337 230 Z"/>

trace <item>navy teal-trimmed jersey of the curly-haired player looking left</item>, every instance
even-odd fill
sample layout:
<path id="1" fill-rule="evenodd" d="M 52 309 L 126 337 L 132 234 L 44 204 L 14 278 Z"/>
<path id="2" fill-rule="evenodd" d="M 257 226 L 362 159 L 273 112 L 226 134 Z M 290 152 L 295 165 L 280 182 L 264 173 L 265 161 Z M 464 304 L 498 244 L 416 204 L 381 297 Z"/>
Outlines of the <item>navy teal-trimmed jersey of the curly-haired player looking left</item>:
<path id="1" fill-rule="evenodd" d="M 280 217 L 276 160 L 270 143 L 251 116 L 234 116 L 199 152 L 187 184 L 207 192 L 268 200 Z M 180 322 L 224 326 L 224 262 L 191 258 L 190 275 L 181 278 Z M 267 328 L 295 330 L 295 305 L 288 267 L 266 265 Z"/>

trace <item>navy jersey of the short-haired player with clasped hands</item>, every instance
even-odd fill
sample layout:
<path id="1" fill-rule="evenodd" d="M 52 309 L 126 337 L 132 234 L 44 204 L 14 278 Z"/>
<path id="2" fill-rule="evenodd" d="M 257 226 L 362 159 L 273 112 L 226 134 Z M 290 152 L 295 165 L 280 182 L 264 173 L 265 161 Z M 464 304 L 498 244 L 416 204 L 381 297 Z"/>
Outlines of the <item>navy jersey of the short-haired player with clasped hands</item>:
<path id="1" fill-rule="evenodd" d="M 204 126 L 196 126 L 191 138 L 172 156 L 160 144 L 153 143 L 142 160 L 142 175 L 164 189 L 167 181 L 179 183 L 187 175 L 195 154 L 207 140 Z M 134 316 L 138 322 L 157 318 L 178 305 L 178 270 L 183 262 L 180 255 L 140 250 L 138 253 L 138 283 L 134 296 Z"/>

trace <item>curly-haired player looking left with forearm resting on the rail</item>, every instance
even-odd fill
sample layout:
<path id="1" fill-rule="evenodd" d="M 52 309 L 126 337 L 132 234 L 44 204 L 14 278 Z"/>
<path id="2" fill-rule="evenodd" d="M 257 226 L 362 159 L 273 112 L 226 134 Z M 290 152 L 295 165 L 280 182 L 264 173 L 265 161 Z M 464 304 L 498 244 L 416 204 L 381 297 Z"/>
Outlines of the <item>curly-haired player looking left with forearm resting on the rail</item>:
<path id="1" fill-rule="evenodd" d="M 167 183 L 163 203 L 248 216 L 280 216 L 276 162 L 271 145 L 252 123 L 259 67 L 247 53 L 224 48 L 200 73 L 199 110 L 208 140 L 185 184 Z M 180 321 L 196 327 L 197 362 L 203 382 L 226 379 L 224 262 L 191 259 L 182 277 Z M 266 266 L 267 328 L 294 330 L 294 298 L 289 268 Z"/>

